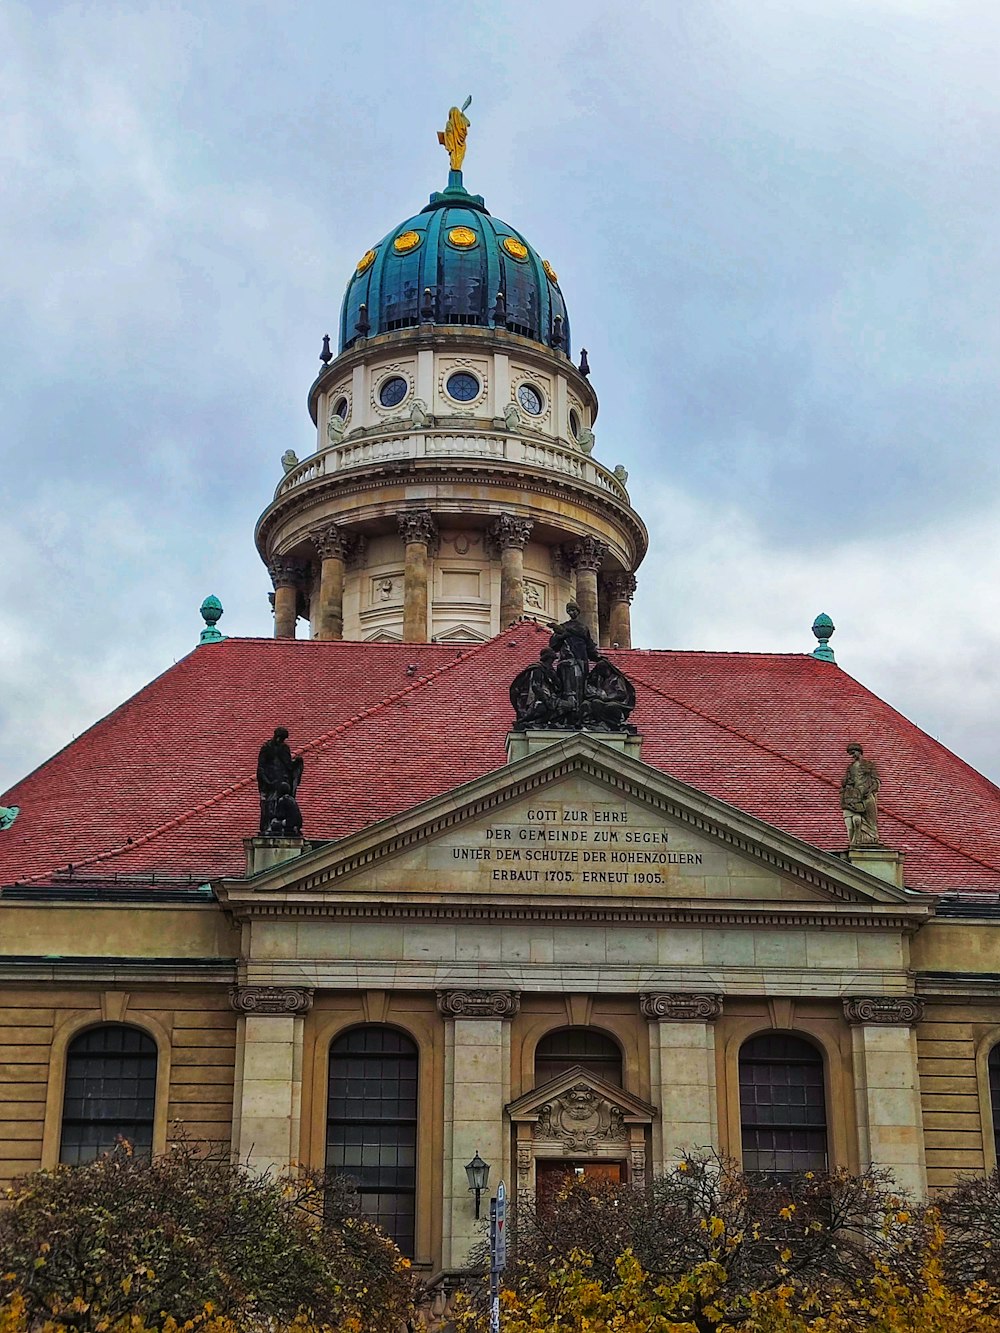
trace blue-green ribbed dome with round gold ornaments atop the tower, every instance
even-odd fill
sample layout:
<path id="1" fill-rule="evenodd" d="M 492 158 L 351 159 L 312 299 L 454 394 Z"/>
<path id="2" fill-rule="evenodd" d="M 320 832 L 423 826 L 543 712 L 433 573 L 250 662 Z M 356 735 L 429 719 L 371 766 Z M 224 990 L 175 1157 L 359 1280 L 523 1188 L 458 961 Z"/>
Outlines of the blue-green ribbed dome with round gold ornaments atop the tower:
<path id="1" fill-rule="evenodd" d="M 340 351 L 357 337 L 420 324 L 500 327 L 569 353 L 556 273 L 465 191 L 461 172 L 361 257 L 340 312 Z"/>

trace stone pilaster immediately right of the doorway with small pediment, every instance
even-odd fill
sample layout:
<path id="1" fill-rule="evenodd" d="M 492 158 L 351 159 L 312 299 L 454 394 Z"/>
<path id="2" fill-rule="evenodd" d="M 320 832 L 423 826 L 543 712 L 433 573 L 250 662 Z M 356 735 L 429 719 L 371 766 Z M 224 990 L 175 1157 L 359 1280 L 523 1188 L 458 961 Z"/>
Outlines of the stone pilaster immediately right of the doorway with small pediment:
<path id="1" fill-rule="evenodd" d="M 660 1118 L 653 1124 L 653 1170 L 685 1152 L 719 1149 L 715 1021 L 723 997 L 656 990 L 639 997 L 649 1020 L 649 1073 Z"/>

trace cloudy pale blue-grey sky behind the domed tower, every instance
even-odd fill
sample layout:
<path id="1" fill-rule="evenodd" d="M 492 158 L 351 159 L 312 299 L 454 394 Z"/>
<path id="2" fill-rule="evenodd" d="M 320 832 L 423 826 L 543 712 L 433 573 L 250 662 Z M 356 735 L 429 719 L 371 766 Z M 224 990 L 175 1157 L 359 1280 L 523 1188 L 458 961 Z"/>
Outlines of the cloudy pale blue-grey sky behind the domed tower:
<path id="1" fill-rule="evenodd" d="M 0 9 L 0 789 L 271 633 L 357 257 L 465 179 L 559 269 L 643 647 L 808 651 L 1000 778 L 996 0 Z M 113 756 L 109 757 L 113 764 Z"/>

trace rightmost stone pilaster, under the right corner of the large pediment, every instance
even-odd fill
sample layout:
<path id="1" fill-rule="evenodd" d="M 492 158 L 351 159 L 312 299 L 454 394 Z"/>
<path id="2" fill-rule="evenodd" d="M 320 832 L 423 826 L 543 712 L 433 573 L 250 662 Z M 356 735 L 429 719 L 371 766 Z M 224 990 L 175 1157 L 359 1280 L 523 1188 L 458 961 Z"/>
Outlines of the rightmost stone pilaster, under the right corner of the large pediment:
<path id="1" fill-rule="evenodd" d="M 924 1126 L 915 1024 L 924 1004 L 911 996 L 844 1000 L 851 1024 L 861 1169 L 884 1166 L 900 1189 L 927 1197 Z"/>

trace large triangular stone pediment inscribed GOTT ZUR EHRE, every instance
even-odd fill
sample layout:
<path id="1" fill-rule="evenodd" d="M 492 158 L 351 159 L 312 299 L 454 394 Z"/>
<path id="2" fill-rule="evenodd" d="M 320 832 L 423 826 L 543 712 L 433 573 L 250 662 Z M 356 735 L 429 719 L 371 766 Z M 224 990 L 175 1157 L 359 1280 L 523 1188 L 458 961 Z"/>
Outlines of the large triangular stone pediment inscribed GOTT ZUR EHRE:
<path id="1" fill-rule="evenodd" d="M 831 792 L 831 800 L 836 793 Z M 381 904 L 589 901 L 760 910 L 925 901 L 585 733 L 324 844 L 224 897 L 289 893 Z"/>

